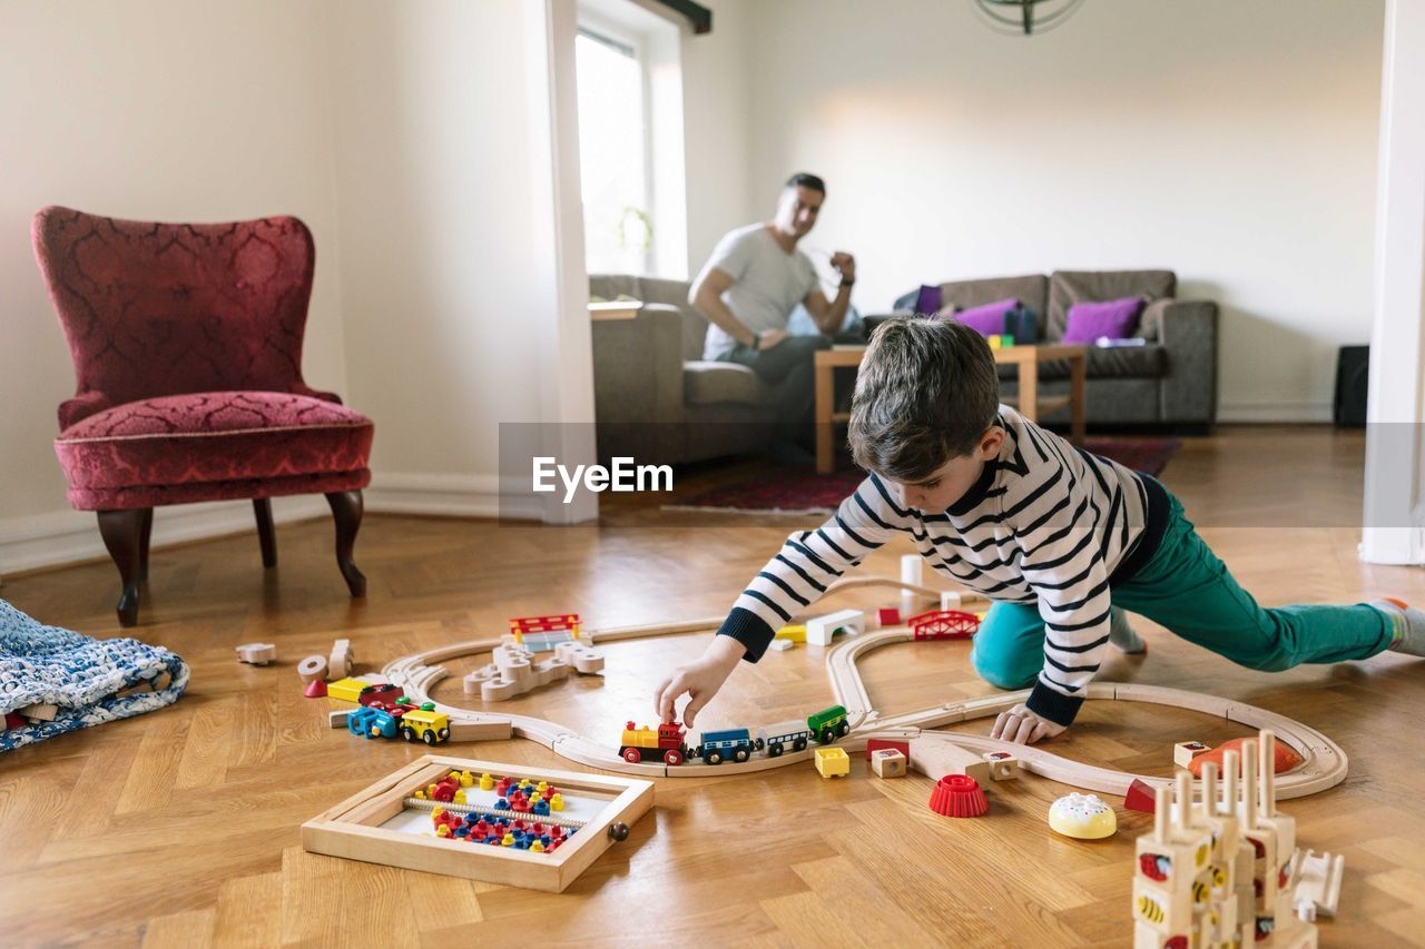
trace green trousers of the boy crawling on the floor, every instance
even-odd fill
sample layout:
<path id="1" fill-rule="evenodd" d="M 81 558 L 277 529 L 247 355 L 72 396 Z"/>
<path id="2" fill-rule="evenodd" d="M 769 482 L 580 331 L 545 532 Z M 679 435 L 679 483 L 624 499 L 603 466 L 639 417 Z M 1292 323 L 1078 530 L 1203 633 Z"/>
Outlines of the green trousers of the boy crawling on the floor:
<path id="1" fill-rule="evenodd" d="M 1385 613 L 1358 606 L 1288 606 L 1264 610 L 1237 586 L 1183 506 L 1171 499 L 1167 531 L 1137 576 L 1113 586 L 1114 608 L 1167 627 L 1238 665 L 1277 673 L 1301 663 L 1340 663 L 1375 655 L 1391 644 Z M 989 608 L 970 661 L 1000 688 L 1026 688 L 1045 665 L 1045 621 L 1036 606 Z"/>

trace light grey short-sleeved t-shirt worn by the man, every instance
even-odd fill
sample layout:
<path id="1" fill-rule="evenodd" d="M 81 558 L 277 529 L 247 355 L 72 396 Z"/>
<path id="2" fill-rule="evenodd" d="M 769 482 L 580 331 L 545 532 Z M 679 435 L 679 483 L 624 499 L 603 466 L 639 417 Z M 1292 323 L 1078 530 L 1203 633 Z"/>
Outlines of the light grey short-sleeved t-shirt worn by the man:
<path id="1" fill-rule="evenodd" d="M 722 292 L 722 302 L 754 333 L 787 329 L 792 309 L 818 285 L 811 258 L 801 251 L 784 251 L 765 224 L 750 224 L 725 234 L 703 274 L 714 266 L 734 281 Z M 721 326 L 708 325 L 704 359 L 718 359 L 734 346 L 737 341 Z"/>

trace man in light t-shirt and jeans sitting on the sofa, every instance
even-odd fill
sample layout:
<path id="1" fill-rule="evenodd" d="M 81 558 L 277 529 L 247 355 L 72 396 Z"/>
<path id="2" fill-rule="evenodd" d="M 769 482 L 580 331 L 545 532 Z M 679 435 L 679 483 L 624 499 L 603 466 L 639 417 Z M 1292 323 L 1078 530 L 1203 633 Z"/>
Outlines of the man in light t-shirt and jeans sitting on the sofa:
<path id="1" fill-rule="evenodd" d="M 775 388 L 778 420 L 802 423 L 812 405 L 812 353 L 831 346 L 851 305 L 856 261 L 844 251 L 831 256 L 841 272 L 836 299 L 821 292 L 817 272 L 797 242 L 817 225 L 826 185 L 799 172 L 787 180 L 777 217 L 731 231 L 693 282 L 688 302 L 712 323 L 703 358 L 748 366 Z M 824 336 L 792 336 L 788 319 L 807 306 Z"/>

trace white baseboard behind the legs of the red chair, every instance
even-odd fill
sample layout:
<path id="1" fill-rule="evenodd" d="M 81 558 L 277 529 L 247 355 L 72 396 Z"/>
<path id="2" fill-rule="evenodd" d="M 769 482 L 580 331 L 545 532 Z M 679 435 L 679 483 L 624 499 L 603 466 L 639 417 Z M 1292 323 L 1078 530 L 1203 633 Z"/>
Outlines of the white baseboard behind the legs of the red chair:
<path id="1" fill-rule="evenodd" d="M 329 513 L 326 499 L 319 494 L 272 499 L 272 520 L 276 523 Z M 152 546 L 168 547 L 245 531 L 256 533 L 252 502 L 175 504 L 154 512 Z M 0 520 L 0 576 L 86 560 L 108 560 L 93 512 L 57 510 Z"/>

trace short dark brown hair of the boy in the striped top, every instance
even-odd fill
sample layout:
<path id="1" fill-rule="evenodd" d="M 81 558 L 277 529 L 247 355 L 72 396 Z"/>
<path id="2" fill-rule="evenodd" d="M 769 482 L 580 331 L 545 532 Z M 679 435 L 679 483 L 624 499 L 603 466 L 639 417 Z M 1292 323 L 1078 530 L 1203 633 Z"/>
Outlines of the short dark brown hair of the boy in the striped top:
<path id="1" fill-rule="evenodd" d="M 876 329 L 861 361 L 851 453 L 868 472 L 922 482 L 975 450 L 998 412 L 983 336 L 956 319 L 898 316 Z"/>

